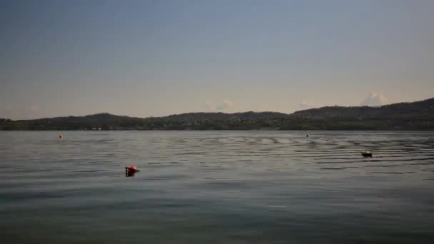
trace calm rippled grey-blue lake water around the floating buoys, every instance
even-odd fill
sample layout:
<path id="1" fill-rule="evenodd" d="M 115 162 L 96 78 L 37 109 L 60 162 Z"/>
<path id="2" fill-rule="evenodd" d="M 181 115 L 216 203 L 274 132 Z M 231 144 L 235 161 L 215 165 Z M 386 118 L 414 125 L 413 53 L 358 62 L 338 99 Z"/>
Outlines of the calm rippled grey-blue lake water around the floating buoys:
<path id="1" fill-rule="evenodd" d="M 0 132 L 1 243 L 434 239 L 433 132 L 58 135 Z"/>

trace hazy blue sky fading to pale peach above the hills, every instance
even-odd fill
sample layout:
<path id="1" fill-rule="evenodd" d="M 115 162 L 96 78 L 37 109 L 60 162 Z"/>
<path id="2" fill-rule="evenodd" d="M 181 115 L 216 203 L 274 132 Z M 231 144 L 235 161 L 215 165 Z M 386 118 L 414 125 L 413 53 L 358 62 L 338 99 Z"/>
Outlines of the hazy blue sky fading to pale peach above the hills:
<path id="1" fill-rule="evenodd" d="M 434 97 L 434 1 L 0 1 L 0 118 Z"/>

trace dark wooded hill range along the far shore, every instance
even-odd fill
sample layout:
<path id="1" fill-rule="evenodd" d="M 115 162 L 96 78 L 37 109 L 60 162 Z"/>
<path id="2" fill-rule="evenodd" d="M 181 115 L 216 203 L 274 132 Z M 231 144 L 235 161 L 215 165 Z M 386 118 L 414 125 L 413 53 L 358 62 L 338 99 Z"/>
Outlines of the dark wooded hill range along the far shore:
<path id="1" fill-rule="evenodd" d="M 328 106 L 295 113 L 182 113 L 134 118 L 97 113 L 11 121 L 0 130 L 434 130 L 434 98 L 380 107 Z"/>

